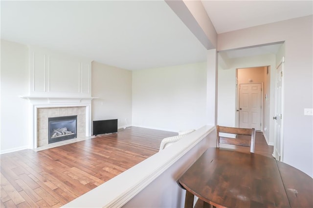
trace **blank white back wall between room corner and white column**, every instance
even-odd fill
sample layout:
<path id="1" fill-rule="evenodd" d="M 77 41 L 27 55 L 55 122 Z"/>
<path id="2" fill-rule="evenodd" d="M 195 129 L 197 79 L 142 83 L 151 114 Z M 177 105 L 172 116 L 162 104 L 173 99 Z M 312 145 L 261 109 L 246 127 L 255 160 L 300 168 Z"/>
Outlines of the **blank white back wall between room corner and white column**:
<path id="1" fill-rule="evenodd" d="M 133 71 L 133 125 L 170 131 L 205 125 L 206 63 Z"/>

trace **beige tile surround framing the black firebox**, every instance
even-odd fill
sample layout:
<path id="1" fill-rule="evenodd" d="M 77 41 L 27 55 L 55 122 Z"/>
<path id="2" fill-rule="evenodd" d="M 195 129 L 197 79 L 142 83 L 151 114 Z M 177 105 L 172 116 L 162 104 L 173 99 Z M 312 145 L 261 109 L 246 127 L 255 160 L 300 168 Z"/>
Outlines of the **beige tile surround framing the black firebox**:
<path id="1" fill-rule="evenodd" d="M 86 107 L 37 108 L 37 147 L 48 145 L 48 118 L 77 115 L 77 138 L 86 135 Z"/>

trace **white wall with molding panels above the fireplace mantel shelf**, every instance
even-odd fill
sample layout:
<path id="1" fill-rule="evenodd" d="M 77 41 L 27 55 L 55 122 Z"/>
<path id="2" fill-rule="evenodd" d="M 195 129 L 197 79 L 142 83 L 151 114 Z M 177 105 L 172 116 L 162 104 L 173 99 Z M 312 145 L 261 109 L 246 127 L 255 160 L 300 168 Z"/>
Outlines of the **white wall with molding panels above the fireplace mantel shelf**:
<path id="1" fill-rule="evenodd" d="M 91 96 L 91 61 L 29 46 L 30 96 Z"/>

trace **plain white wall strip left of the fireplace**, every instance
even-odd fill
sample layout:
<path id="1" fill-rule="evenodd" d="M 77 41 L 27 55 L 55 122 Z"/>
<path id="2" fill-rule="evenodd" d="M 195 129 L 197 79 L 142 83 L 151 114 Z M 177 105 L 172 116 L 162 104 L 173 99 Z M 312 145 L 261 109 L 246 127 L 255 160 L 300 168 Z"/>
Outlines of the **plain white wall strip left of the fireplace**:
<path id="1" fill-rule="evenodd" d="M 28 147 L 28 48 L 1 40 L 1 153 Z"/>

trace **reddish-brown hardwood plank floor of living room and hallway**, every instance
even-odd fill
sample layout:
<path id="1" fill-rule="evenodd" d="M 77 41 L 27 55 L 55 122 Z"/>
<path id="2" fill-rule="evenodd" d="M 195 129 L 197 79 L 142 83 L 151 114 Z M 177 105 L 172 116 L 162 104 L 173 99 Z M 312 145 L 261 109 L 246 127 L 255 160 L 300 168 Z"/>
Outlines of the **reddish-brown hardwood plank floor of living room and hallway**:
<path id="1" fill-rule="evenodd" d="M 174 132 L 131 127 L 116 134 L 35 152 L 2 154 L 1 208 L 61 207 L 158 152 Z M 261 132 L 255 152 L 271 156 Z"/>

